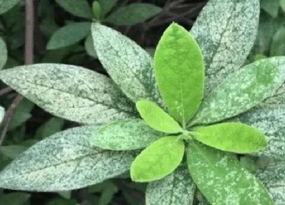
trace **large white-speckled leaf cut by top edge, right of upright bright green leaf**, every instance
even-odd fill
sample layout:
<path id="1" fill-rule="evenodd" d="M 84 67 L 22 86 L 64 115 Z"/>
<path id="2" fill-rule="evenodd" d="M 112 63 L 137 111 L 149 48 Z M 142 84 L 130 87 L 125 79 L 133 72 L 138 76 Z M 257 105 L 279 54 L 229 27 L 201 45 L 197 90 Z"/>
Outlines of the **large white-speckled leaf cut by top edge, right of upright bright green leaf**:
<path id="1" fill-rule="evenodd" d="M 191 33 L 206 68 L 206 96 L 244 64 L 258 32 L 259 0 L 210 0 Z"/>

